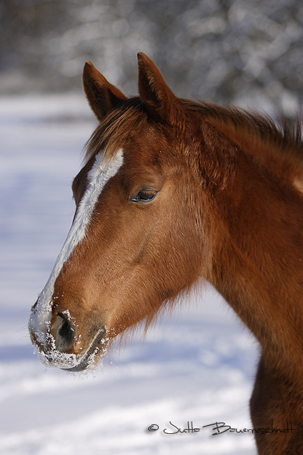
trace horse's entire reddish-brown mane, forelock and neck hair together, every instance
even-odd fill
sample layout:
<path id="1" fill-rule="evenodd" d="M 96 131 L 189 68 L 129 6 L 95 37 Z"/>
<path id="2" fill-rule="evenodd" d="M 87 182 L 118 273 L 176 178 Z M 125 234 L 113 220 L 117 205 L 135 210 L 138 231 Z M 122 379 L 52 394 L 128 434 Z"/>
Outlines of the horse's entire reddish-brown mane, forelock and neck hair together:
<path id="1" fill-rule="evenodd" d="M 276 176 L 292 183 L 303 193 L 303 138 L 301 118 L 279 116 L 272 120 L 266 114 L 246 111 L 235 106 L 179 99 L 187 109 L 198 113 L 234 146 L 251 153 Z M 143 127 L 144 105 L 139 97 L 125 100 L 120 108 L 108 113 L 93 132 L 85 148 L 84 162 L 98 151 L 110 158 L 129 139 L 129 133 Z M 123 125 L 123 127 L 122 127 Z"/>

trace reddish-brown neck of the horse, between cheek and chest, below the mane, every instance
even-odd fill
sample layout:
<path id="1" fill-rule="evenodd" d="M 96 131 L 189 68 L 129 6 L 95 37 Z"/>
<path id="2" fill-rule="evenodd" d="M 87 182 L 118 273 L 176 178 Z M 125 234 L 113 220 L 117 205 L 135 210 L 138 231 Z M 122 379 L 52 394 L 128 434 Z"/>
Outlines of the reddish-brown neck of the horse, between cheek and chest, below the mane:
<path id="1" fill-rule="evenodd" d="M 255 158 L 238 152 L 217 198 L 213 285 L 258 338 L 269 367 L 302 378 L 303 201 Z"/>

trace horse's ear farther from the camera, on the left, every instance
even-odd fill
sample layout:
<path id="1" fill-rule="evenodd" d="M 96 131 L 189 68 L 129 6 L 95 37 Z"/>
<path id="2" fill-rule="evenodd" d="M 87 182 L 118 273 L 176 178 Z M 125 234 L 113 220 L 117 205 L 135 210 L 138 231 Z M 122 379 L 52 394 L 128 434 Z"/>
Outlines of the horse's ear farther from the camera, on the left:
<path id="1" fill-rule="evenodd" d="M 83 87 L 90 107 L 98 120 L 102 120 L 111 109 L 126 99 L 120 90 L 111 85 L 91 62 L 83 69 Z"/>

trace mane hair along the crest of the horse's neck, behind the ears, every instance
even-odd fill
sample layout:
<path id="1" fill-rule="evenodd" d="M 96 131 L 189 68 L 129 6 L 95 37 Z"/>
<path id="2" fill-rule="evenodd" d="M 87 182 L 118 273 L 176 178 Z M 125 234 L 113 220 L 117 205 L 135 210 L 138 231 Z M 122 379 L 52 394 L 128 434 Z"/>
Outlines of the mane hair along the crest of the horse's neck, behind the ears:
<path id="1" fill-rule="evenodd" d="M 300 117 L 266 114 L 234 106 L 183 99 L 187 109 L 199 113 L 235 146 L 251 153 L 281 179 L 291 181 L 303 191 L 303 138 Z"/>

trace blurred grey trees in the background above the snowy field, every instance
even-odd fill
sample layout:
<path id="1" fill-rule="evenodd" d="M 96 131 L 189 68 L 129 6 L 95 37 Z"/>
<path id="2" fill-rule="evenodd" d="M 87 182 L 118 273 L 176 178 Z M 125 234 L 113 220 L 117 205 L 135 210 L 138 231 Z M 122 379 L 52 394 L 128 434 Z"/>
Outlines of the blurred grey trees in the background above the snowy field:
<path id="1" fill-rule="evenodd" d="M 86 59 L 136 93 L 146 52 L 181 96 L 302 102 L 301 0 L 2 0 L 0 92 L 80 89 Z"/>

